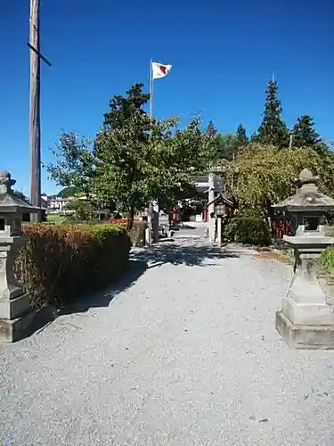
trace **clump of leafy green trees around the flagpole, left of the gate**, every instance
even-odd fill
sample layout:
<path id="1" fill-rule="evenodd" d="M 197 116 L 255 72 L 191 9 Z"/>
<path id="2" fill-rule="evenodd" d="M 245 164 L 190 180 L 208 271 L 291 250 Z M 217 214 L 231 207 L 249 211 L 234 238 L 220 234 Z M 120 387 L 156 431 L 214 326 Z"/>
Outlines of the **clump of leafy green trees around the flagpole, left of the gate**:
<path id="1" fill-rule="evenodd" d="M 191 194 L 191 176 L 216 159 L 213 134 L 194 118 L 185 128 L 180 120 L 151 120 L 144 111 L 150 95 L 136 84 L 126 96 L 115 95 L 94 142 L 63 133 L 48 167 L 61 186 L 94 194 L 131 218 L 151 201 L 160 206 Z"/>

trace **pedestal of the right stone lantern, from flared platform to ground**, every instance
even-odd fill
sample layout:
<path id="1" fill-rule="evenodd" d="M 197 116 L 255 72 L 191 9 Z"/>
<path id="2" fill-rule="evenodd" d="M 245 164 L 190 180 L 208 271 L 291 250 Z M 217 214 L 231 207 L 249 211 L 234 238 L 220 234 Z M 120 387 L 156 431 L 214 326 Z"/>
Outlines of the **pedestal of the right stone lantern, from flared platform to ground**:
<path id="1" fill-rule="evenodd" d="M 314 260 L 334 239 L 295 235 L 284 240 L 295 249 L 296 268 L 276 313 L 276 329 L 291 349 L 334 350 L 334 306 L 326 281 L 314 269 Z"/>

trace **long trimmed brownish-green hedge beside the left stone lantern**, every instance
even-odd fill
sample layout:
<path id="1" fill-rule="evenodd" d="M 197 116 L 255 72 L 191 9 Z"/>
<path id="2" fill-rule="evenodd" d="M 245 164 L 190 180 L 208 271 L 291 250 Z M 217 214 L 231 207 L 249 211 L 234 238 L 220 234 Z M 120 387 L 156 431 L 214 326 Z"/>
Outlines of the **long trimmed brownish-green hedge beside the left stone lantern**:
<path id="1" fill-rule="evenodd" d="M 131 248 L 123 227 L 24 225 L 27 241 L 15 269 L 32 293 L 31 304 L 57 307 L 116 281 L 126 269 Z"/>

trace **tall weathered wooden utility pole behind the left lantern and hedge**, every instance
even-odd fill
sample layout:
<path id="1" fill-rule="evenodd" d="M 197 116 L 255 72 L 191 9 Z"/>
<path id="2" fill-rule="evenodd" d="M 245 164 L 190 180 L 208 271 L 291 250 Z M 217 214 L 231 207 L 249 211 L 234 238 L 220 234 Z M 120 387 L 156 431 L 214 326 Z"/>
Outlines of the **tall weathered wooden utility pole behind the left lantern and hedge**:
<path id="1" fill-rule="evenodd" d="M 30 0 L 30 202 L 41 208 L 41 129 L 40 129 L 40 58 L 39 58 L 39 0 Z M 36 51 L 34 51 L 36 50 Z M 32 214 L 41 221 L 42 212 Z"/>

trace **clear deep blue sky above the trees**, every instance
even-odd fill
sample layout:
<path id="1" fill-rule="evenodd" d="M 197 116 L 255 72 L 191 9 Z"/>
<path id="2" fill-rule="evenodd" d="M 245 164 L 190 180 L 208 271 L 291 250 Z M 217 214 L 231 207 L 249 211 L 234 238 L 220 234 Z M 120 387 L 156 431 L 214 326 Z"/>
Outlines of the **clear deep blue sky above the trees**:
<path id="1" fill-rule="evenodd" d="M 2 0 L 1 165 L 29 193 L 29 0 Z M 314 117 L 334 140 L 332 0 L 41 0 L 42 161 L 61 128 L 94 136 L 110 97 L 148 86 L 150 59 L 172 64 L 155 82 L 155 115 L 201 112 L 223 132 L 261 121 L 265 87 L 279 82 L 283 118 Z M 59 187 L 43 172 L 42 189 Z"/>

